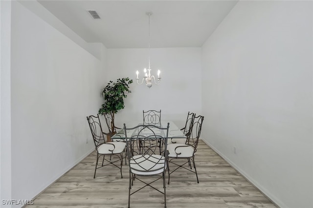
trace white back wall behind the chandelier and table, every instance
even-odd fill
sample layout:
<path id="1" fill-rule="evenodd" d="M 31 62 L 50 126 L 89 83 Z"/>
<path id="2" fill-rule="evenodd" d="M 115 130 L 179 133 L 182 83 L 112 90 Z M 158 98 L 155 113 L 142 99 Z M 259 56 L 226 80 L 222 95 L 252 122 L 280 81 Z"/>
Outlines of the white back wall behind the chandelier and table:
<path id="1" fill-rule="evenodd" d="M 148 68 L 148 49 L 108 49 L 107 82 L 129 77 L 132 93 L 125 108 L 116 114 L 116 125 L 123 121 L 142 120 L 142 110 L 161 109 L 161 120 L 183 126 L 188 111 L 201 112 L 201 48 L 152 48 L 151 73 L 161 70 L 161 83 L 148 88 L 135 83 Z"/>

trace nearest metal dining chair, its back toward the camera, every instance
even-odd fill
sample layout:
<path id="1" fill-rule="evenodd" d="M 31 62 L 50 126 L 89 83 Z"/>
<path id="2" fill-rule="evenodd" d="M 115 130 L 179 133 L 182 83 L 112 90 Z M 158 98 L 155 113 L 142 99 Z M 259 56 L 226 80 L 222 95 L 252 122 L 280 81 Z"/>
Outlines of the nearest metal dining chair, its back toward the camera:
<path id="1" fill-rule="evenodd" d="M 165 175 L 168 154 L 168 129 L 169 123 L 167 124 L 167 127 L 160 127 L 156 125 L 137 125 L 132 128 L 127 128 L 124 124 L 130 175 L 128 208 L 130 208 L 131 195 L 144 187 L 151 187 L 164 194 L 164 207 L 166 208 Z M 141 146 L 142 143 L 144 143 L 145 146 Z M 156 144 L 162 144 L 162 148 L 159 149 Z M 154 177 L 155 179 L 151 182 L 151 180 L 145 180 L 147 177 Z M 135 179 L 142 182 L 144 186 L 132 191 Z M 151 185 L 152 183 L 156 183 L 159 179 L 163 180 L 163 190 Z"/>

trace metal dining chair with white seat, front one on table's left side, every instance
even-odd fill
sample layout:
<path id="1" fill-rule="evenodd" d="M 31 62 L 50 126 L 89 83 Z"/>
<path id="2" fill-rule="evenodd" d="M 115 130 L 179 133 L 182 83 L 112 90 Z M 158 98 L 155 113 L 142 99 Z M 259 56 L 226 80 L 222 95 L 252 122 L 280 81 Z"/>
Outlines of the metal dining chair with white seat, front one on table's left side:
<path id="1" fill-rule="evenodd" d="M 113 165 L 120 169 L 121 171 L 121 178 L 123 178 L 122 175 L 122 165 L 123 165 L 123 151 L 125 149 L 126 143 L 125 142 L 106 142 L 104 138 L 104 132 L 102 131 L 101 123 L 99 115 L 97 116 L 87 116 L 87 121 L 89 124 L 89 128 L 91 131 L 91 135 L 93 138 L 95 150 L 97 152 L 97 159 L 96 159 L 96 166 L 94 169 L 94 175 L 93 178 L 96 176 L 96 170 L 103 166 Z M 102 164 L 98 167 L 99 158 L 103 156 Z M 106 159 L 105 156 L 110 156 L 110 159 Z M 114 161 L 112 161 L 112 157 L 116 156 L 117 158 L 114 158 Z M 104 161 L 108 162 L 107 164 L 104 164 Z M 117 166 L 115 163 L 120 161 L 120 166 Z"/>

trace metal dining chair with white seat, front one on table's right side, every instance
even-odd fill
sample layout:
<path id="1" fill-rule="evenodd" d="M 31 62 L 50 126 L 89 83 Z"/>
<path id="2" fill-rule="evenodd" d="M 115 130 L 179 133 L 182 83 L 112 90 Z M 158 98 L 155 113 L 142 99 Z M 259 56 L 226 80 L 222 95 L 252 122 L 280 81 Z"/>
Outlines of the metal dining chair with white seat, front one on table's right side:
<path id="1" fill-rule="evenodd" d="M 194 122 L 191 126 L 190 134 L 187 134 L 187 142 L 186 144 L 169 144 L 167 145 L 167 149 L 169 151 L 169 160 L 168 160 L 168 184 L 170 184 L 170 174 L 172 174 L 174 171 L 177 169 L 184 168 L 186 170 L 189 170 L 193 173 L 196 173 L 197 176 L 197 182 L 199 184 L 199 179 L 198 179 L 198 173 L 196 169 L 196 164 L 195 164 L 195 153 L 197 151 L 197 146 L 199 143 L 199 138 L 201 134 L 201 127 L 202 127 L 202 122 L 203 122 L 204 117 L 203 116 L 197 116 L 194 118 Z M 178 164 L 175 162 L 177 159 L 182 159 L 182 160 L 187 160 L 185 163 Z M 194 170 L 192 169 L 191 163 L 192 161 Z M 176 169 L 172 170 L 170 172 L 170 164 L 176 165 Z M 184 165 L 188 164 L 189 167 L 185 167 Z"/>

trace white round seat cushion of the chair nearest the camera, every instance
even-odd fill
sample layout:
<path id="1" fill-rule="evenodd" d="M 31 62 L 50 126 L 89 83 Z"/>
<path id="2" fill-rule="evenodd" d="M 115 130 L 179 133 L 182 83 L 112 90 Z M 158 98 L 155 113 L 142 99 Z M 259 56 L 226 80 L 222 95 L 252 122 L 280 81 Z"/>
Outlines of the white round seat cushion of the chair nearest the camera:
<path id="1" fill-rule="evenodd" d="M 166 163 L 165 165 L 164 163 L 165 158 L 161 155 L 135 155 L 130 160 L 131 171 L 137 175 L 155 175 L 162 173 L 164 169 L 166 169 Z"/>

